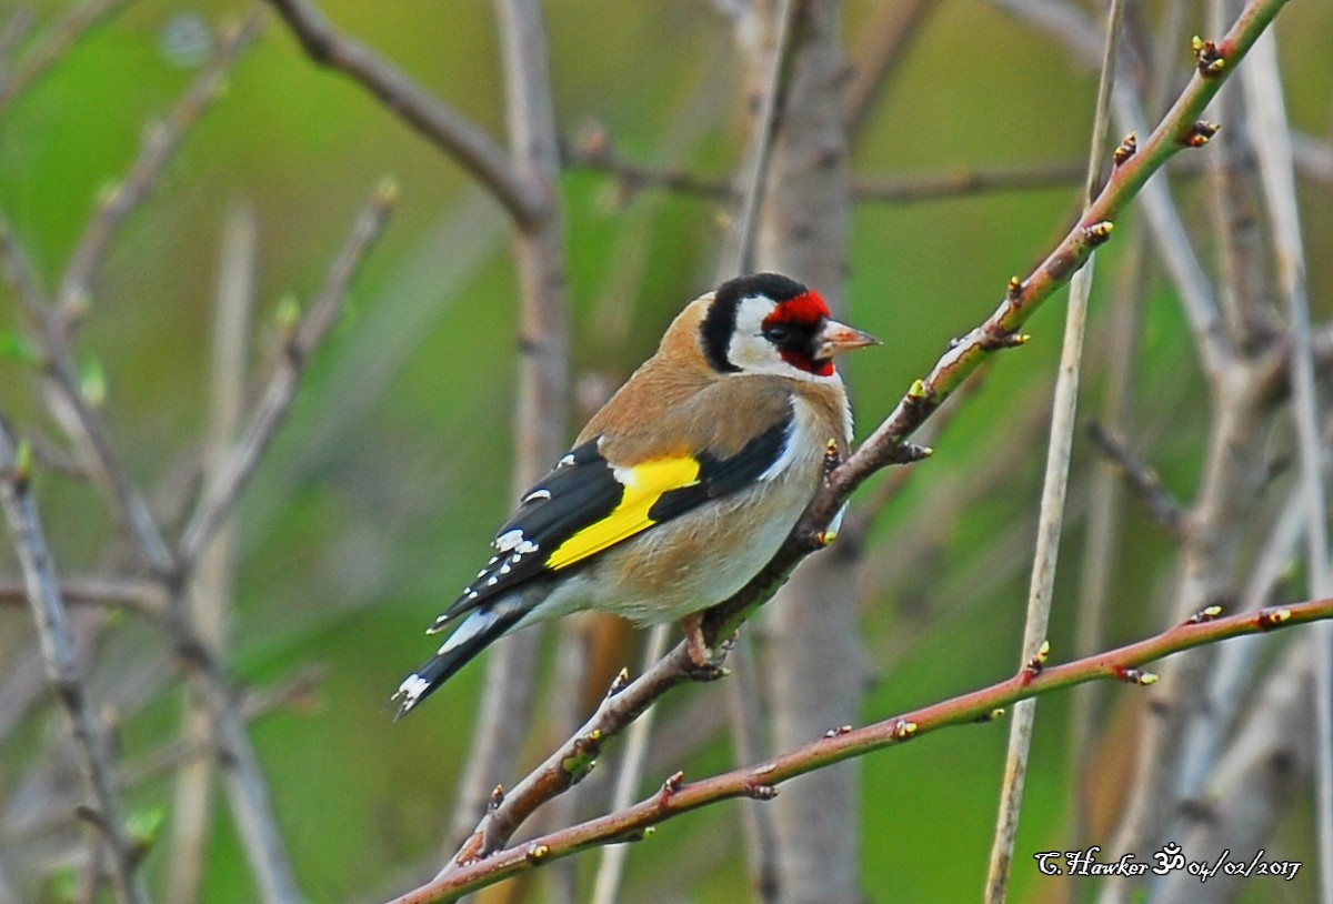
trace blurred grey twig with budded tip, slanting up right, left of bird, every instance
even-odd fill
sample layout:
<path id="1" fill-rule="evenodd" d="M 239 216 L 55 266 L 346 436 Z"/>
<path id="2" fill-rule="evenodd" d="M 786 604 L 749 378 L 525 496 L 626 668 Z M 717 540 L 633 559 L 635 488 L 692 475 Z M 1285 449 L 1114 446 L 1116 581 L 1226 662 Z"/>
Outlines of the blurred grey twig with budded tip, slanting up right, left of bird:
<path id="1" fill-rule="evenodd" d="M 199 505 L 180 535 L 179 559 L 188 571 L 227 520 L 241 491 L 259 467 L 279 428 L 287 421 L 305 365 L 337 321 L 348 285 L 367 252 L 379 239 L 397 201 L 397 187 L 385 180 L 371 196 L 352 225 L 352 232 L 325 276 L 324 288 L 295 324 L 284 345 L 284 356 L 269 377 L 263 397 L 255 405 L 241 439 L 225 461 L 217 465 Z"/>

